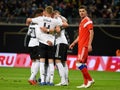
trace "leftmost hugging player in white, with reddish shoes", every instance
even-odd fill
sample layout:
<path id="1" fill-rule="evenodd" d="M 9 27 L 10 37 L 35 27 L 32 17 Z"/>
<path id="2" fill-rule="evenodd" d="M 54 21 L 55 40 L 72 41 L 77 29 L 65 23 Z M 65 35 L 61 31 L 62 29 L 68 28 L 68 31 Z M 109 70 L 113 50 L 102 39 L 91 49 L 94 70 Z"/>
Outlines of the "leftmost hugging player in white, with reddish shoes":
<path id="1" fill-rule="evenodd" d="M 34 17 L 43 16 L 43 9 L 39 8 L 34 12 Z M 39 41 L 36 35 L 40 31 L 38 23 L 31 22 L 28 27 L 27 37 L 30 37 L 29 43 L 28 43 L 28 50 L 30 53 L 30 57 L 32 60 L 31 65 L 31 75 L 29 77 L 28 82 L 31 85 L 36 85 L 36 74 L 39 70 Z"/>

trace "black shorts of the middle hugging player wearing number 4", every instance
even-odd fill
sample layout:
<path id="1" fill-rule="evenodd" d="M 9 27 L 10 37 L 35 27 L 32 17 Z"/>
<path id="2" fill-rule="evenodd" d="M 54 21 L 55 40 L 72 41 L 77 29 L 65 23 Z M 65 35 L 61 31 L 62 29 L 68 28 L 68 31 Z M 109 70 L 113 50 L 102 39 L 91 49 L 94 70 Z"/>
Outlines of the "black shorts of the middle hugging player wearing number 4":
<path id="1" fill-rule="evenodd" d="M 54 46 L 48 46 L 43 43 L 39 43 L 39 57 L 54 59 Z"/>

